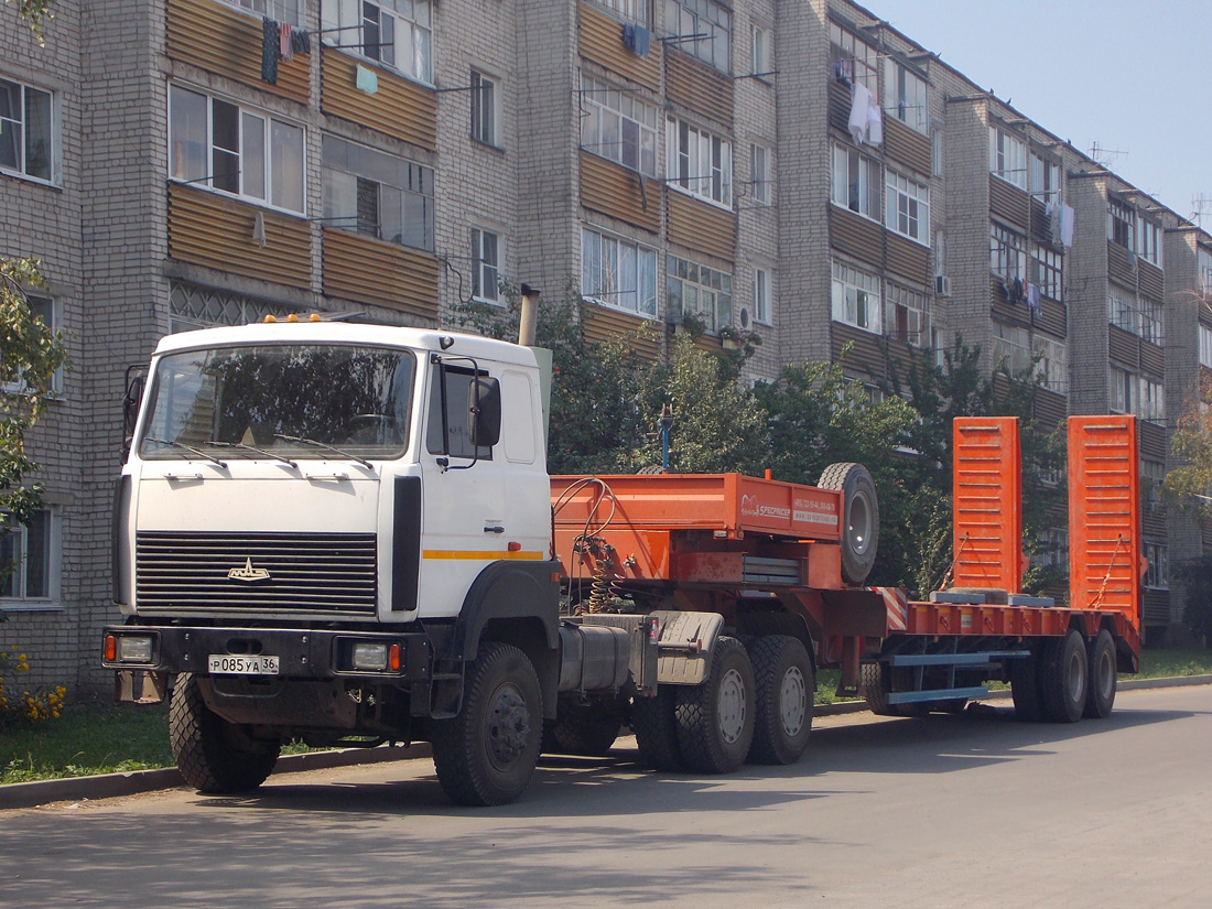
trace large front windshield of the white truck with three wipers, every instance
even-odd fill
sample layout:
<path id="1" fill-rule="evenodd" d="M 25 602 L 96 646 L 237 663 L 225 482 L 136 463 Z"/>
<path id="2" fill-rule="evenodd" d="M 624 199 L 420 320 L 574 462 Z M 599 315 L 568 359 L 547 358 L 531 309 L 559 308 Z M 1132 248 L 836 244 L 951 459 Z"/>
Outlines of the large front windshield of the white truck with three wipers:
<path id="1" fill-rule="evenodd" d="M 407 350 L 265 344 L 188 350 L 156 364 L 139 456 L 396 458 L 408 445 Z"/>

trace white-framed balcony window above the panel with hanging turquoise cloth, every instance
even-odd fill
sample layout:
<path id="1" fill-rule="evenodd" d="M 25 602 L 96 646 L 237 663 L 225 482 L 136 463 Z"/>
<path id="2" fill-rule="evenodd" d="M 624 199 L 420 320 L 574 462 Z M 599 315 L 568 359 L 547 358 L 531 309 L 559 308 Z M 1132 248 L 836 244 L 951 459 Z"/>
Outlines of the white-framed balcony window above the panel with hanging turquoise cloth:
<path id="1" fill-rule="evenodd" d="M 321 0 L 324 40 L 433 81 L 433 0 Z"/>

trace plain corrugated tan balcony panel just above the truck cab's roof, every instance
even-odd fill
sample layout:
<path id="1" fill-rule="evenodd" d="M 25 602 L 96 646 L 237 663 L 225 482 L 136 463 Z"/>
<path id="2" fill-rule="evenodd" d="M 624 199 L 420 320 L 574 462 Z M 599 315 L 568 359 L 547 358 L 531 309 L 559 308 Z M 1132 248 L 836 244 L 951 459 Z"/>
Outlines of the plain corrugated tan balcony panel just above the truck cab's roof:
<path id="1" fill-rule="evenodd" d="M 324 229 L 324 292 L 438 318 L 438 259 L 338 228 Z"/>

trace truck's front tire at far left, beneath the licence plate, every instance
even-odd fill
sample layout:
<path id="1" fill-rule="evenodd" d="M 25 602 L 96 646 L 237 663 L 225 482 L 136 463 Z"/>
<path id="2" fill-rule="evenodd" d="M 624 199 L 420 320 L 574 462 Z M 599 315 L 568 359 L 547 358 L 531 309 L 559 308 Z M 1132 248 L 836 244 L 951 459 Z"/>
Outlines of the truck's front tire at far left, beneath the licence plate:
<path id="1" fill-rule="evenodd" d="M 264 783 L 278 764 L 281 743 L 252 739 L 244 727 L 212 713 L 194 674 L 182 673 L 168 707 L 168 747 L 189 785 L 223 795 Z"/>

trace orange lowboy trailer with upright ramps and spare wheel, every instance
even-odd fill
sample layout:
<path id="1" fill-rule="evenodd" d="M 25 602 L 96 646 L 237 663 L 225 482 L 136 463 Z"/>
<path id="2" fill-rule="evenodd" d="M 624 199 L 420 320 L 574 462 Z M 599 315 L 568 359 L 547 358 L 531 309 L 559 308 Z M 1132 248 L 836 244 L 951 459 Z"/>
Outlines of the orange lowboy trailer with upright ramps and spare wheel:
<path id="1" fill-rule="evenodd" d="M 1004 680 L 1024 719 L 1105 716 L 1116 674 L 1138 669 L 1134 419 L 1069 419 L 1068 606 L 1021 591 L 1017 421 L 957 419 L 954 463 L 954 584 L 926 601 L 862 585 L 877 510 L 856 465 L 825 471 L 834 488 L 738 474 L 554 476 L 554 555 L 581 613 L 622 602 L 719 613 L 743 640 L 795 635 L 877 713 L 954 708 Z"/>

